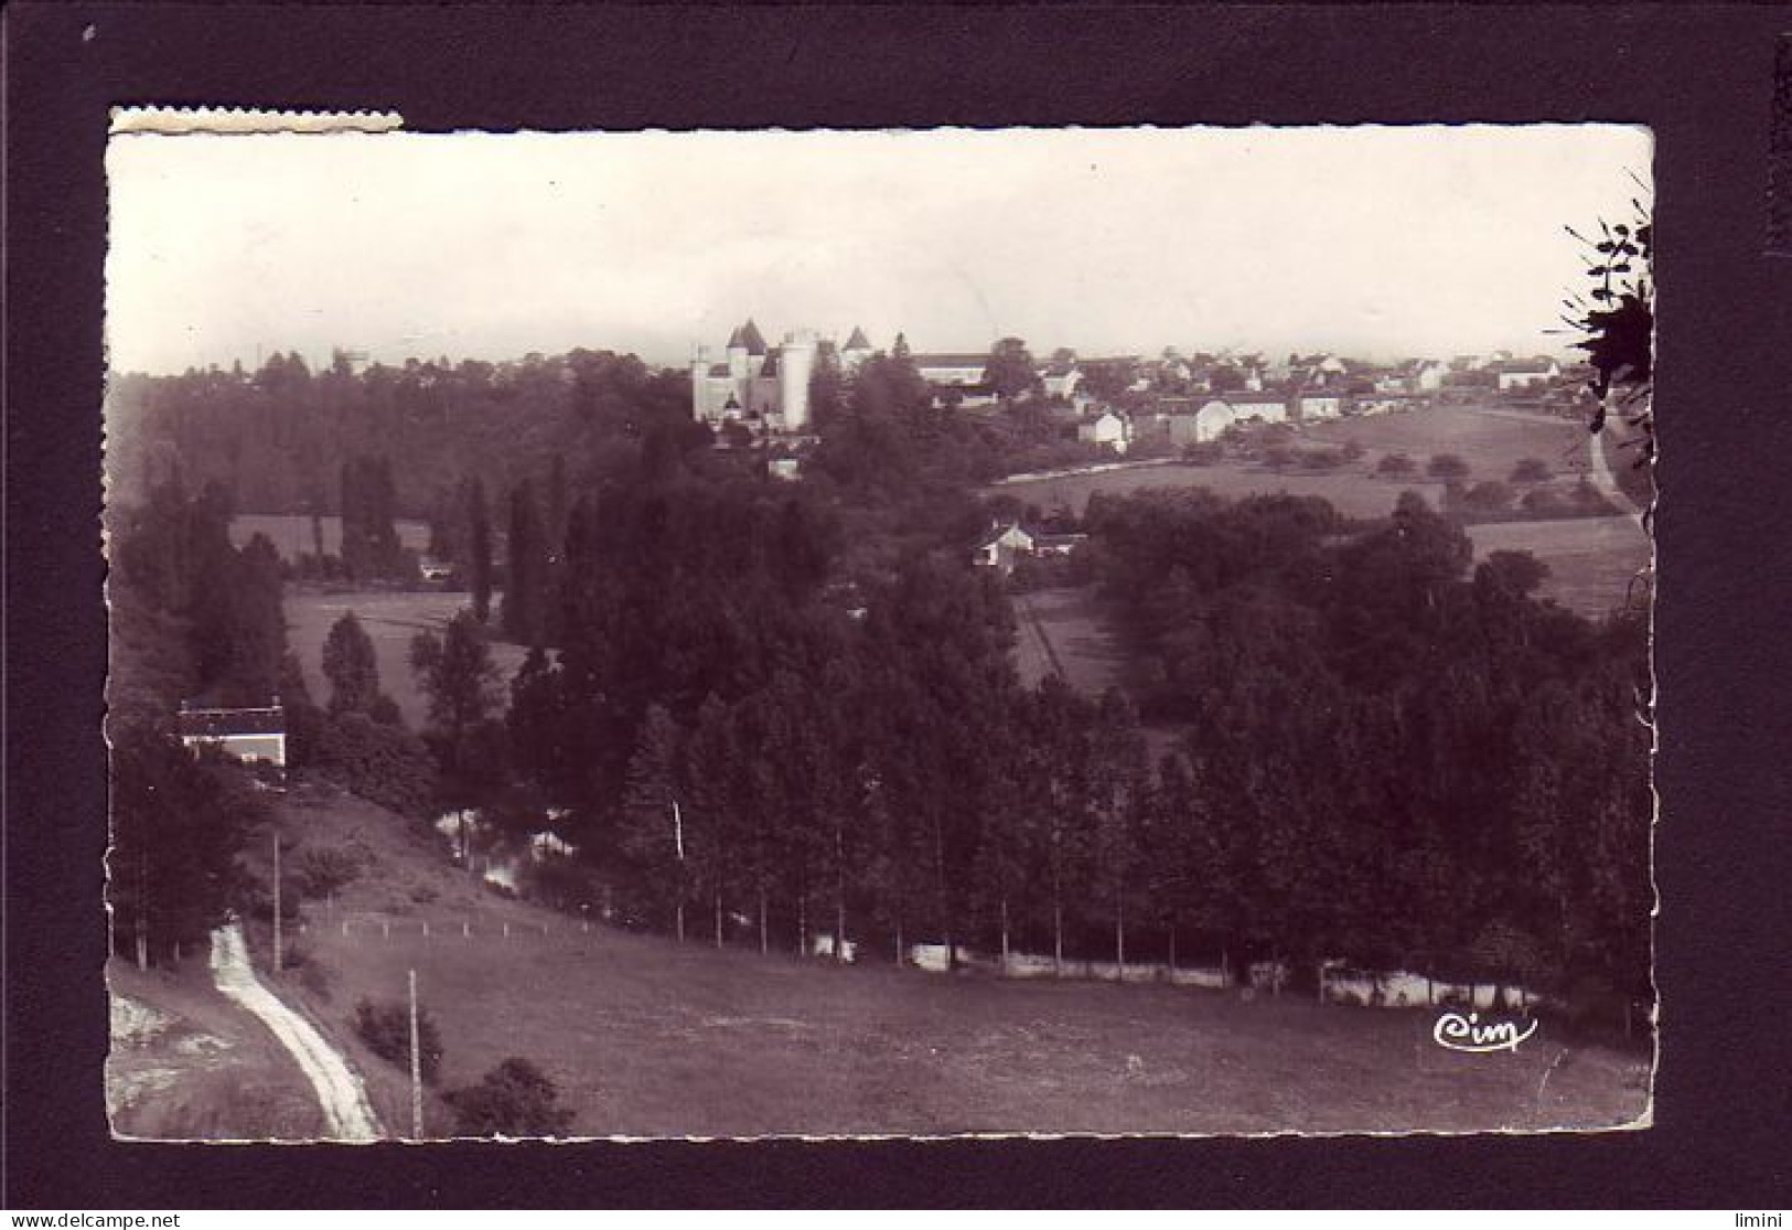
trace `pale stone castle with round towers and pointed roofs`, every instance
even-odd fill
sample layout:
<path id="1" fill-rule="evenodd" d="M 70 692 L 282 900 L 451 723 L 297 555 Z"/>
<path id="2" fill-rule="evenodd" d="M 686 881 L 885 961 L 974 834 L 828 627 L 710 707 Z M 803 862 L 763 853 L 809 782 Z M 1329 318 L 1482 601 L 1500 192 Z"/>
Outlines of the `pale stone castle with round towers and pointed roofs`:
<path id="1" fill-rule="evenodd" d="M 815 355 L 831 346 L 808 330 L 785 333 L 783 342 L 767 348 L 751 319 L 728 339 L 728 362 L 711 364 L 697 348 L 690 360 L 690 409 L 702 423 L 760 418 L 774 430 L 801 434 L 810 429 L 808 378 Z M 871 355 L 864 330 L 855 328 L 840 348 L 840 366 L 853 369 Z"/>

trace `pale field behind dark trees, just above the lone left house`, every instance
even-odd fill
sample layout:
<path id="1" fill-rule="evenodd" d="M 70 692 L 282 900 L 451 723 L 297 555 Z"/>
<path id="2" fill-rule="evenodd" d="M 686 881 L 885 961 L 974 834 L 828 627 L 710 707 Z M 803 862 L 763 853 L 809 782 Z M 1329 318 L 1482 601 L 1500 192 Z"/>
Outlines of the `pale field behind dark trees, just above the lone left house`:
<path id="1" fill-rule="evenodd" d="M 466 593 L 335 592 L 321 586 L 289 585 L 285 595 L 287 644 L 299 660 L 312 699 L 323 705 L 330 697 L 330 683 L 324 680 L 323 667 L 324 637 L 330 635 L 330 628 L 342 619 L 344 611 L 355 611 L 373 640 L 375 658 L 380 663 L 380 689 L 398 701 L 405 723 L 418 730 L 428 715 L 428 701 L 410 671 L 410 640 L 425 629 L 441 631 L 443 624 L 468 602 Z M 491 656 L 505 685 L 523 663 L 525 653 L 521 645 L 493 642 Z"/>

